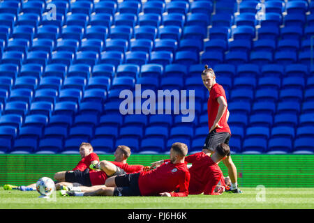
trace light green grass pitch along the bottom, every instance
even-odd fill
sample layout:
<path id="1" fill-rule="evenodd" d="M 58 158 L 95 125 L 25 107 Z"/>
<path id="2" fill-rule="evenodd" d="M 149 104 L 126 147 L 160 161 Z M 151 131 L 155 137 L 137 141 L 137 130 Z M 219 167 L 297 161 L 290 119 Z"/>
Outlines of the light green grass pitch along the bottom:
<path id="1" fill-rule="evenodd" d="M 59 197 L 39 199 L 38 192 L 3 190 L 0 188 L 1 209 L 313 209 L 313 188 L 266 187 L 264 201 L 255 187 L 241 187 L 244 194 L 220 196 L 189 195 L 188 197 Z"/>

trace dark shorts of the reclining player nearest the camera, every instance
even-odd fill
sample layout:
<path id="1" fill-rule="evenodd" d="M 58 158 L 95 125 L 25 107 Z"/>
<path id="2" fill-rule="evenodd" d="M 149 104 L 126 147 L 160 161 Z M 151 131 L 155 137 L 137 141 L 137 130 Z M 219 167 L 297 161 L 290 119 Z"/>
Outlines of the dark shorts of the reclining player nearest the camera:
<path id="1" fill-rule="evenodd" d="M 140 173 L 116 176 L 117 187 L 114 188 L 114 196 L 142 196 L 138 187 L 139 177 Z"/>

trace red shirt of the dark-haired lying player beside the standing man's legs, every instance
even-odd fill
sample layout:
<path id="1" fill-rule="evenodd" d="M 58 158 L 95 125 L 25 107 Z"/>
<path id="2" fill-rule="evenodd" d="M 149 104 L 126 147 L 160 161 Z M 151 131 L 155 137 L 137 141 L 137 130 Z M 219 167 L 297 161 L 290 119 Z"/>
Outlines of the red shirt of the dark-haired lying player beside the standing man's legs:
<path id="1" fill-rule="evenodd" d="M 219 180 L 223 178 L 223 172 L 216 162 L 211 160 L 211 157 L 203 152 L 188 155 L 185 161 L 192 163 L 190 171 L 190 186 L 188 187 L 189 194 L 211 194 L 218 195 L 214 192 Z"/>

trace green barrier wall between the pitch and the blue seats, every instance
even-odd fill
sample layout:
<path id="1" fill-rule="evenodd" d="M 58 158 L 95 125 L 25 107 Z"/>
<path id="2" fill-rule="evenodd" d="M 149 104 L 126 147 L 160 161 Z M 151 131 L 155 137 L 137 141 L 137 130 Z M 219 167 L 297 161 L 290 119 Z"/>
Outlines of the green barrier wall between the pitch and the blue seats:
<path id="1" fill-rule="evenodd" d="M 113 155 L 99 155 L 100 160 L 114 160 Z M 143 164 L 167 159 L 169 155 L 137 155 L 128 164 Z M 232 155 L 237 166 L 240 187 L 314 187 L 314 155 Z M 73 169 L 80 155 L 0 155 L 0 186 L 29 185 L 43 176 L 53 178 L 57 171 Z M 223 174 L 227 168 L 220 162 Z"/>

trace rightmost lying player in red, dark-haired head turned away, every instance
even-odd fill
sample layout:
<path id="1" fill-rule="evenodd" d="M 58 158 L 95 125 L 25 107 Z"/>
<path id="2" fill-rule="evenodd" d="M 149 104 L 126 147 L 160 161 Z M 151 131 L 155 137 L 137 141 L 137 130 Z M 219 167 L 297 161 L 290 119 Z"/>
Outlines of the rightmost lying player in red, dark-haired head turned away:
<path id="1" fill-rule="evenodd" d="M 192 163 L 192 167 L 188 169 L 190 171 L 189 194 L 221 194 L 225 179 L 218 163 L 230 153 L 230 148 L 227 144 L 221 143 L 216 146 L 213 155 L 211 153 L 212 151 L 203 149 L 202 152 L 188 155 L 185 158 L 186 163 Z M 167 160 L 154 162 L 151 167 L 158 167 L 163 162 L 167 162 Z M 222 187 L 217 187 L 219 182 Z"/>

